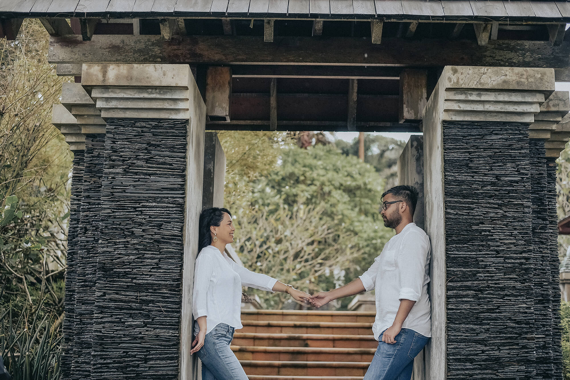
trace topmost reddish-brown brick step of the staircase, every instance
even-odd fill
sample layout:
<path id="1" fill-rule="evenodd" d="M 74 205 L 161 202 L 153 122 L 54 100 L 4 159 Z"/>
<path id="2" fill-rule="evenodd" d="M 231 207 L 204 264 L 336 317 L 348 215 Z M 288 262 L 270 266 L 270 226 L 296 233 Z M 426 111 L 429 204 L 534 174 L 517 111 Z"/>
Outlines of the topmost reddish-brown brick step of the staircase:
<path id="1" fill-rule="evenodd" d="M 242 310 L 242 321 L 374 322 L 374 312 Z"/>

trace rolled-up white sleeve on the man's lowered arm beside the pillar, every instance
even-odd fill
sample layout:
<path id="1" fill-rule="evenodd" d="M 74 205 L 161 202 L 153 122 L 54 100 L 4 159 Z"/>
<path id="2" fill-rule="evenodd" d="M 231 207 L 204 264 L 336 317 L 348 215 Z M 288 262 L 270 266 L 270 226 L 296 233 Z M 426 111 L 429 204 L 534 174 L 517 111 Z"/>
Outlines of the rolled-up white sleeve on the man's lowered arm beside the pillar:
<path id="1" fill-rule="evenodd" d="M 429 246 L 421 234 L 412 232 L 406 236 L 402 250 L 396 257 L 396 265 L 400 271 L 398 299 L 410 301 L 420 299 L 428 252 Z"/>

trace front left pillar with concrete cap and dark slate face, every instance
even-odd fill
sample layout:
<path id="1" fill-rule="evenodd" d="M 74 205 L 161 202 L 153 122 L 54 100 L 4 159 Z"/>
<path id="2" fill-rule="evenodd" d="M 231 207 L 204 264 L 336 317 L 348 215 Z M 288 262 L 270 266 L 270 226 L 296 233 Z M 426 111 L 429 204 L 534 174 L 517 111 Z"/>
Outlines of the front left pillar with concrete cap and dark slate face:
<path id="1" fill-rule="evenodd" d="M 84 64 L 80 86 L 88 99 L 67 107 L 86 136 L 81 218 L 92 249 L 78 263 L 90 265 L 93 303 L 74 376 L 193 378 L 205 105 L 188 65 Z"/>

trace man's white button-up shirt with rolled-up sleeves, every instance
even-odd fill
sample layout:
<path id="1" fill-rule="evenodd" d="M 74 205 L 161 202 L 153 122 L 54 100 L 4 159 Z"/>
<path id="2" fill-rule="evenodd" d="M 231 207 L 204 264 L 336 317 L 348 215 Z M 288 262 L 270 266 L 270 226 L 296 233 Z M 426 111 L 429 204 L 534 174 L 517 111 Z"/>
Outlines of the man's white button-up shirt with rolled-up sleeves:
<path id="1" fill-rule="evenodd" d="M 401 299 L 416 301 L 402 328 L 431 336 L 429 260 L 429 238 L 416 223 L 409 223 L 386 243 L 380 256 L 359 277 L 367 291 L 376 289 L 376 320 L 372 326 L 376 340 L 394 323 Z"/>

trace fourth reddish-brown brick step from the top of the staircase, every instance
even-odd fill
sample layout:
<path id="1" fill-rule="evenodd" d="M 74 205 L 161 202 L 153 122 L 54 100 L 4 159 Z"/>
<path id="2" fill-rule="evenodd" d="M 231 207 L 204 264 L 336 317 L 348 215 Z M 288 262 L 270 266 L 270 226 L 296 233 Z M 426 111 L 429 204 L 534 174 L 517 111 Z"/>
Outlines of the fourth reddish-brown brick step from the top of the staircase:
<path id="1" fill-rule="evenodd" d="M 364 362 L 372 361 L 373 348 L 231 346 L 240 360 Z"/>

